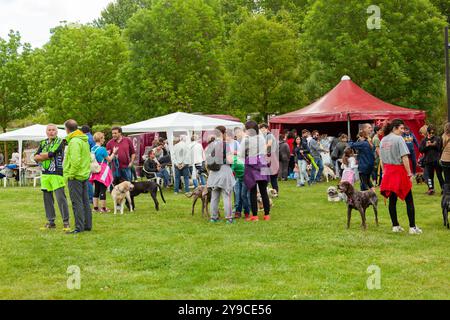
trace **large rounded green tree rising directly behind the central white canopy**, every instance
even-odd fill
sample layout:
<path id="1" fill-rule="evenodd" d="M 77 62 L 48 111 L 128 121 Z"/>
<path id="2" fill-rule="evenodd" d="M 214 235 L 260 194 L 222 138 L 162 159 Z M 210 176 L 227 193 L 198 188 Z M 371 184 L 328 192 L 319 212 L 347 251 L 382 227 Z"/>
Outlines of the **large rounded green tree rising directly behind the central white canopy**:
<path id="1" fill-rule="evenodd" d="M 128 22 L 121 73 L 133 115 L 217 110 L 223 96 L 221 19 L 203 0 L 162 0 Z"/>

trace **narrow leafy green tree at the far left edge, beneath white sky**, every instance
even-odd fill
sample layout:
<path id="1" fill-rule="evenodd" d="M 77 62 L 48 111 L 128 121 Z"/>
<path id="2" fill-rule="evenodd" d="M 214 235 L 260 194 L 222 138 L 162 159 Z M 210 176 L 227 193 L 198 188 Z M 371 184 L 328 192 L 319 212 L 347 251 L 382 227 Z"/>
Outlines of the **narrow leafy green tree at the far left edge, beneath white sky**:
<path id="1" fill-rule="evenodd" d="M 34 110 L 30 102 L 28 70 L 31 47 L 22 44 L 19 32 L 10 31 L 8 40 L 0 38 L 0 126 L 22 119 Z M 5 143 L 5 157 L 8 151 Z"/>

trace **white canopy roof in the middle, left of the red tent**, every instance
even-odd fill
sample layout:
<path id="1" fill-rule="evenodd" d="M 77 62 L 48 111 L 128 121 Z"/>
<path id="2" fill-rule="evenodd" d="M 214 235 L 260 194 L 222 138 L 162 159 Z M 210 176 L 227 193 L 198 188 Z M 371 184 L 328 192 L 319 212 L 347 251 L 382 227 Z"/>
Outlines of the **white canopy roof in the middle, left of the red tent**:
<path id="1" fill-rule="evenodd" d="M 214 130 L 217 126 L 227 129 L 243 128 L 241 122 L 234 122 L 211 117 L 205 117 L 184 112 L 175 112 L 142 122 L 122 127 L 123 132 L 175 132 L 175 131 L 206 131 Z"/>

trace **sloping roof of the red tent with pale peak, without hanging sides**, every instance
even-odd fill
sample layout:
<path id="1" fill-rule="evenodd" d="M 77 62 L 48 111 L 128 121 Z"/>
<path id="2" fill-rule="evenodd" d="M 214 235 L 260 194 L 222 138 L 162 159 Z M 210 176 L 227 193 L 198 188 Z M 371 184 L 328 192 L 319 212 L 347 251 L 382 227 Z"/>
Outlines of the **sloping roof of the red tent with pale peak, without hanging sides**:
<path id="1" fill-rule="evenodd" d="M 425 111 L 386 103 L 356 85 L 348 76 L 313 104 L 270 119 L 270 123 L 322 123 L 351 120 L 424 120 Z"/>

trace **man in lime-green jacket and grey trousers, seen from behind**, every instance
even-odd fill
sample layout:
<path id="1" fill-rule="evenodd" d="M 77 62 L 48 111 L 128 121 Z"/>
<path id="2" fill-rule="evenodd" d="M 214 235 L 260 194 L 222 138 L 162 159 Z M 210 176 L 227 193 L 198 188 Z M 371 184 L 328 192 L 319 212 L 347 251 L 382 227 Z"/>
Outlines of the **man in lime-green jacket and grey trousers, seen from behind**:
<path id="1" fill-rule="evenodd" d="M 88 179 L 91 173 L 91 151 L 88 137 L 78 130 L 75 120 L 64 123 L 67 132 L 67 152 L 64 159 L 64 177 L 68 180 L 69 194 L 75 216 L 72 234 L 92 230 L 92 211 L 89 204 Z"/>

